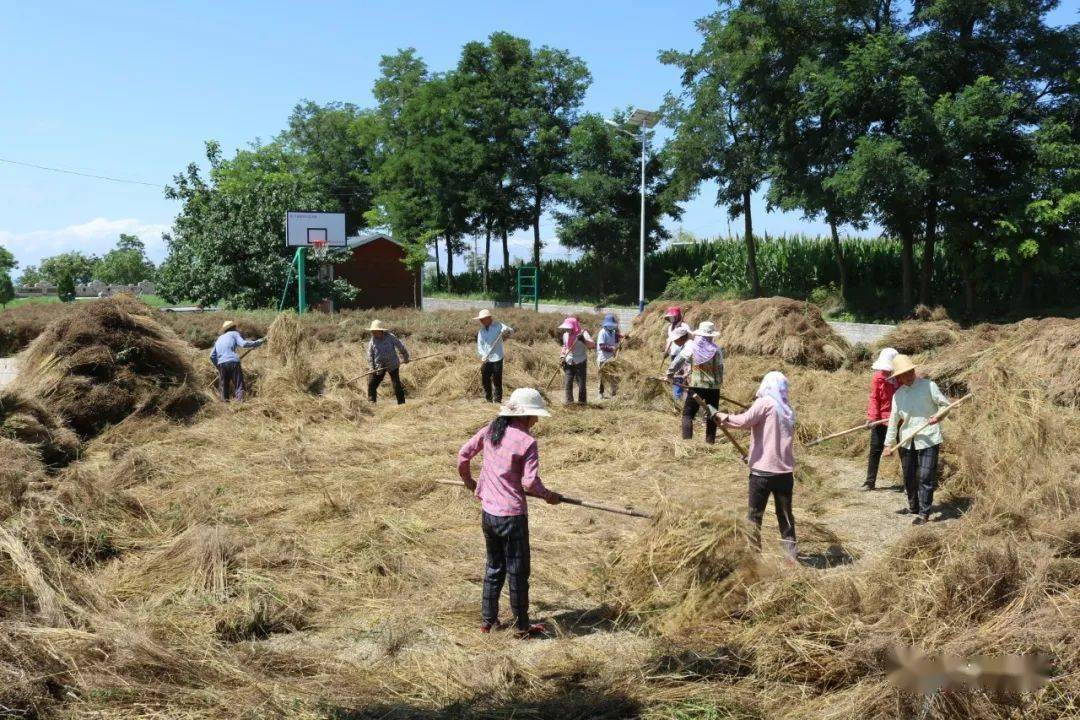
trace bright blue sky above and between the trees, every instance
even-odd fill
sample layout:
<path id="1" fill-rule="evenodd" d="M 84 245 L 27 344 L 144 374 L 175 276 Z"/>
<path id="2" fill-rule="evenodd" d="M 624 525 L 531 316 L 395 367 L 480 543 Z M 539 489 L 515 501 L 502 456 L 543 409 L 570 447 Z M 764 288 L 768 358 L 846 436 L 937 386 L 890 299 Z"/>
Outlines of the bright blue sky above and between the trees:
<path id="1" fill-rule="evenodd" d="M 585 109 L 658 106 L 677 87 L 657 53 L 697 44 L 713 0 L 570 2 L 21 2 L 0 0 L 0 159 L 141 180 L 62 175 L 0 162 L 0 245 L 21 266 L 58 252 L 103 253 L 136 232 L 152 259 L 177 205 L 160 187 L 203 158 L 268 139 L 301 98 L 372 104 L 379 57 L 415 46 L 435 70 L 464 42 L 507 30 L 569 50 L 593 74 Z M 1075 22 L 1066 0 L 1055 23 Z M 735 232 L 705 187 L 681 226 Z M 823 232 L 755 207 L 755 229 Z M 554 228 L 543 228 L 554 240 Z M 530 235 L 515 239 L 527 252 Z M 559 254 L 557 247 L 551 255 Z"/>

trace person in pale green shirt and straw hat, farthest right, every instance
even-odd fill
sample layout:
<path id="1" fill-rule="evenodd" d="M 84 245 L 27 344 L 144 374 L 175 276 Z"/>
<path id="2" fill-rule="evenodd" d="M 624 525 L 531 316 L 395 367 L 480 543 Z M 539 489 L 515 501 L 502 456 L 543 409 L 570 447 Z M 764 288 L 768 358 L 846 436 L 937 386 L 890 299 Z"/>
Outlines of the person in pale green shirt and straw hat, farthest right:
<path id="1" fill-rule="evenodd" d="M 902 426 L 910 432 L 930 421 L 930 424 L 920 430 L 910 443 L 900 448 L 904 489 L 907 490 L 906 512 L 915 515 L 912 525 L 922 525 L 930 519 L 930 508 L 934 504 L 934 490 L 937 489 L 937 451 L 944 439 L 941 425 L 933 416 L 948 407 L 948 398 L 942 394 L 933 380 L 915 375 L 915 364 L 907 355 L 896 355 L 892 358 L 892 373 L 889 377 L 900 383 L 900 386 L 892 396 L 889 430 L 885 436 L 886 456 L 895 452 Z"/>

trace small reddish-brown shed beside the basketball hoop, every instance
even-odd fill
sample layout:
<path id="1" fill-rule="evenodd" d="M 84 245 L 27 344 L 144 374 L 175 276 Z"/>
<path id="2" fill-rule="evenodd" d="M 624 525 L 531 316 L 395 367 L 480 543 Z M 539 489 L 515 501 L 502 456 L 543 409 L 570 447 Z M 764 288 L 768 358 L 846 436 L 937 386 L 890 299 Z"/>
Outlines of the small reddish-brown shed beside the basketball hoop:
<path id="1" fill-rule="evenodd" d="M 405 248 L 382 232 L 362 232 L 347 240 L 352 257 L 334 266 L 334 276 L 360 290 L 349 308 L 419 308 L 420 270 L 405 267 Z"/>

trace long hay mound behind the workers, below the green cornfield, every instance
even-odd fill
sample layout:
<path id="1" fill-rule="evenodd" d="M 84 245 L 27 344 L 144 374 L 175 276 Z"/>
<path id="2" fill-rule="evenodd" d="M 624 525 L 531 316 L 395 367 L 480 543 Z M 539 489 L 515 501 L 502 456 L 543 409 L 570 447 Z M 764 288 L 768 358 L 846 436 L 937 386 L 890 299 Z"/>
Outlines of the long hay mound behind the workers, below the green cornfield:
<path id="1" fill-rule="evenodd" d="M 654 339 L 662 345 L 667 327 L 665 308 L 665 302 L 649 305 L 634 321 L 634 337 L 646 342 Z M 717 344 L 728 355 L 768 355 L 826 370 L 840 367 L 848 356 L 847 341 L 809 302 L 778 297 L 685 302 L 681 308 L 692 327 L 706 320 L 716 324 L 720 334 Z"/>

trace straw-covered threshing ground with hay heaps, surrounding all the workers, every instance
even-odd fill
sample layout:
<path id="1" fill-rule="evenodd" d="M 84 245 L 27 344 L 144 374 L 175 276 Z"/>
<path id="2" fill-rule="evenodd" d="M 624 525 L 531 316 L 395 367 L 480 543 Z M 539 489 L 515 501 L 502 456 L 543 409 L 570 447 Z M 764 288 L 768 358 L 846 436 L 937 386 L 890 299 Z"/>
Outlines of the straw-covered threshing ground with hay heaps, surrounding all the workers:
<path id="1" fill-rule="evenodd" d="M 780 301 L 758 309 L 696 309 L 732 334 L 724 393 L 750 399 L 782 369 L 800 445 L 860 422 L 865 363 L 820 315 Z M 862 434 L 797 446 L 793 569 L 771 511 L 762 554 L 747 552 L 745 468 L 732 449 L 704 445 L 702 429 L 678 439 L 672 400 L 648 380 L 661 365 L 658 312 L 632 328 L 620 397 L 597 402 L 591 366 L 592 404 L 564 408 L 558 378 L 537 433 L 550 487 L 658 517 L 534 503 L 532 609 L 553 637 L 528 642 L 477 631 L 478 507 L 434 483 L 456 477 L 458 447 L 494 413 L 480 399 L 469 313 L 381 315 L 415 356 L 446 353 L 405 367 L 403 407 L 388 385 L 372 406 L 363 382 L 348 382 L 364 369 L 365 316 L 252 318 L 270 342 L 245 359 L 255 395 L 228 406 L 170 402 L 213 379 L 206 351 L 183 326 L 164 327 L 183 320 L 123 301 L 98 309 L 108 331 L 65 332 L 94 318 L 60 318 L 26 353 L 37 367 L 60 359 L 37 378 L 24 364 L 0 403 L 11 408 L 0 717 L 1080 712 L 1080 410 L 1065 390 L 1080 382 L 1080 323 L 960 330 L 929 351 L 926 370 L 943 388 L 976 394 L 945 423 L 943 517 L 929 526 L 894 513 L 895 460 L 882 461 L 886 489 L 858 492 Z M 523 331 L 508 342 L 508 392 L 546 384 L 561 320 L 511 316 Z M 168 368 L 165 381 L 154 367 Z M 75 392 L 87 382 L 100 389 Z M 97 423 L 97 402 L 126 415 Z M 1039 651 L 1051 681 L 923 698 L 888 682 L 895 644 Z"/>

